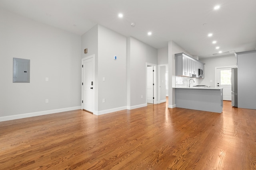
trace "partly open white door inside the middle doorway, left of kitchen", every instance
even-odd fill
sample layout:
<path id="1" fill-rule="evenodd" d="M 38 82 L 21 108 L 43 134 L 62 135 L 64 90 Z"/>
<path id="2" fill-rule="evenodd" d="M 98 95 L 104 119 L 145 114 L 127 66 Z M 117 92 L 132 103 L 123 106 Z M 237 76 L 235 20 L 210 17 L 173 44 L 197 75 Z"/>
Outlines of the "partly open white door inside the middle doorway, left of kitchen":
<path id="1" fill-rule="evenodd" d="M 147 65 L 147 103 L 154 104 L 154 74 L 153 66 Z"/>

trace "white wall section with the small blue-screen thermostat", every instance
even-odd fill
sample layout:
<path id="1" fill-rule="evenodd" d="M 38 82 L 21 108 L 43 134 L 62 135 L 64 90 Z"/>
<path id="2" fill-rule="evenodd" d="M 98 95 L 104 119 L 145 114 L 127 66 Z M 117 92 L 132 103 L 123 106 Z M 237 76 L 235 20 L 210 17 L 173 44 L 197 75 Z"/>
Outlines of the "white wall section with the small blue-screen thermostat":
<path id="1" fill-rule="evenodd" d="M 126 37 L 98 25 L 98 111 L 126 108 L 126 92 Z"/>

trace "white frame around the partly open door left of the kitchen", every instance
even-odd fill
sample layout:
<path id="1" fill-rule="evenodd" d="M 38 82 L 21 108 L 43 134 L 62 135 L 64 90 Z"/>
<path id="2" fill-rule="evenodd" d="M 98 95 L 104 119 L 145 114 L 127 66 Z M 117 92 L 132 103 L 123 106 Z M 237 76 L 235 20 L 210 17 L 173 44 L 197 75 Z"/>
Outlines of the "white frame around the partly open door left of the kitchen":
<path id="1" fill-rule="evenodd" d="M 153 78 L 153 82 L 154 82 L 154 87 L 153 87 L 153 90 L 154 90 L 154 93 L 153 93 L 153 97 L 154 97 L 154 100 L 153 100 L 153 103 L 154 104 L 157 104 L 157 90 L 156 90 L 156 86 L 157 86 L 157 82 L 156 82 L 156 80 L 157 80 L 157 77 L 156 77 L 156 73 L 157 73 L 157 67 L 156 67 L 156 64 L 152 64 L 152 63 L 146 63 L 146 103 L 147 103 L 147 100 L 148 100 L 148 92 L 147 92 L 147 90 L 148 90 L 148 80 L 147 80 L 147 75 L 148 75 L 148 65 L 150 65 L 150 66 L 153 66 L 153 70 L 154 70 L 154 72 L 153 72 L 153 75 L 154 75 L 154 78 Z"/>

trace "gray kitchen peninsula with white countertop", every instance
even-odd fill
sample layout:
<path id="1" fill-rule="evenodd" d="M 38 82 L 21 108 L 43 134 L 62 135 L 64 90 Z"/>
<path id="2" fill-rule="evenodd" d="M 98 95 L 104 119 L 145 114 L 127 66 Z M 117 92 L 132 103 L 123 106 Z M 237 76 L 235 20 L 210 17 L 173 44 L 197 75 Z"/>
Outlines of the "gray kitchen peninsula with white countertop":
<path id="1" fill-rule="evenodd" d="M 176 107 L 211 112 L 222 112 L 222 88 L 175 88 Z"/>

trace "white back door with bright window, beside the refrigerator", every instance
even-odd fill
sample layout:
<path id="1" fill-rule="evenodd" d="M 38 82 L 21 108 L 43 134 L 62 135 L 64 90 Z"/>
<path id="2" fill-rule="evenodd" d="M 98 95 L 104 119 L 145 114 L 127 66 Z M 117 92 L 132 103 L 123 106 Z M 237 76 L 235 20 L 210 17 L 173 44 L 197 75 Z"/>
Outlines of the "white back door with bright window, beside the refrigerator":
<path id="1" fill-rule="evenodd" d="M 231 101 L 231 68 L 217 68 L 217 87 L 223 88 L 223 100 Z"/>

